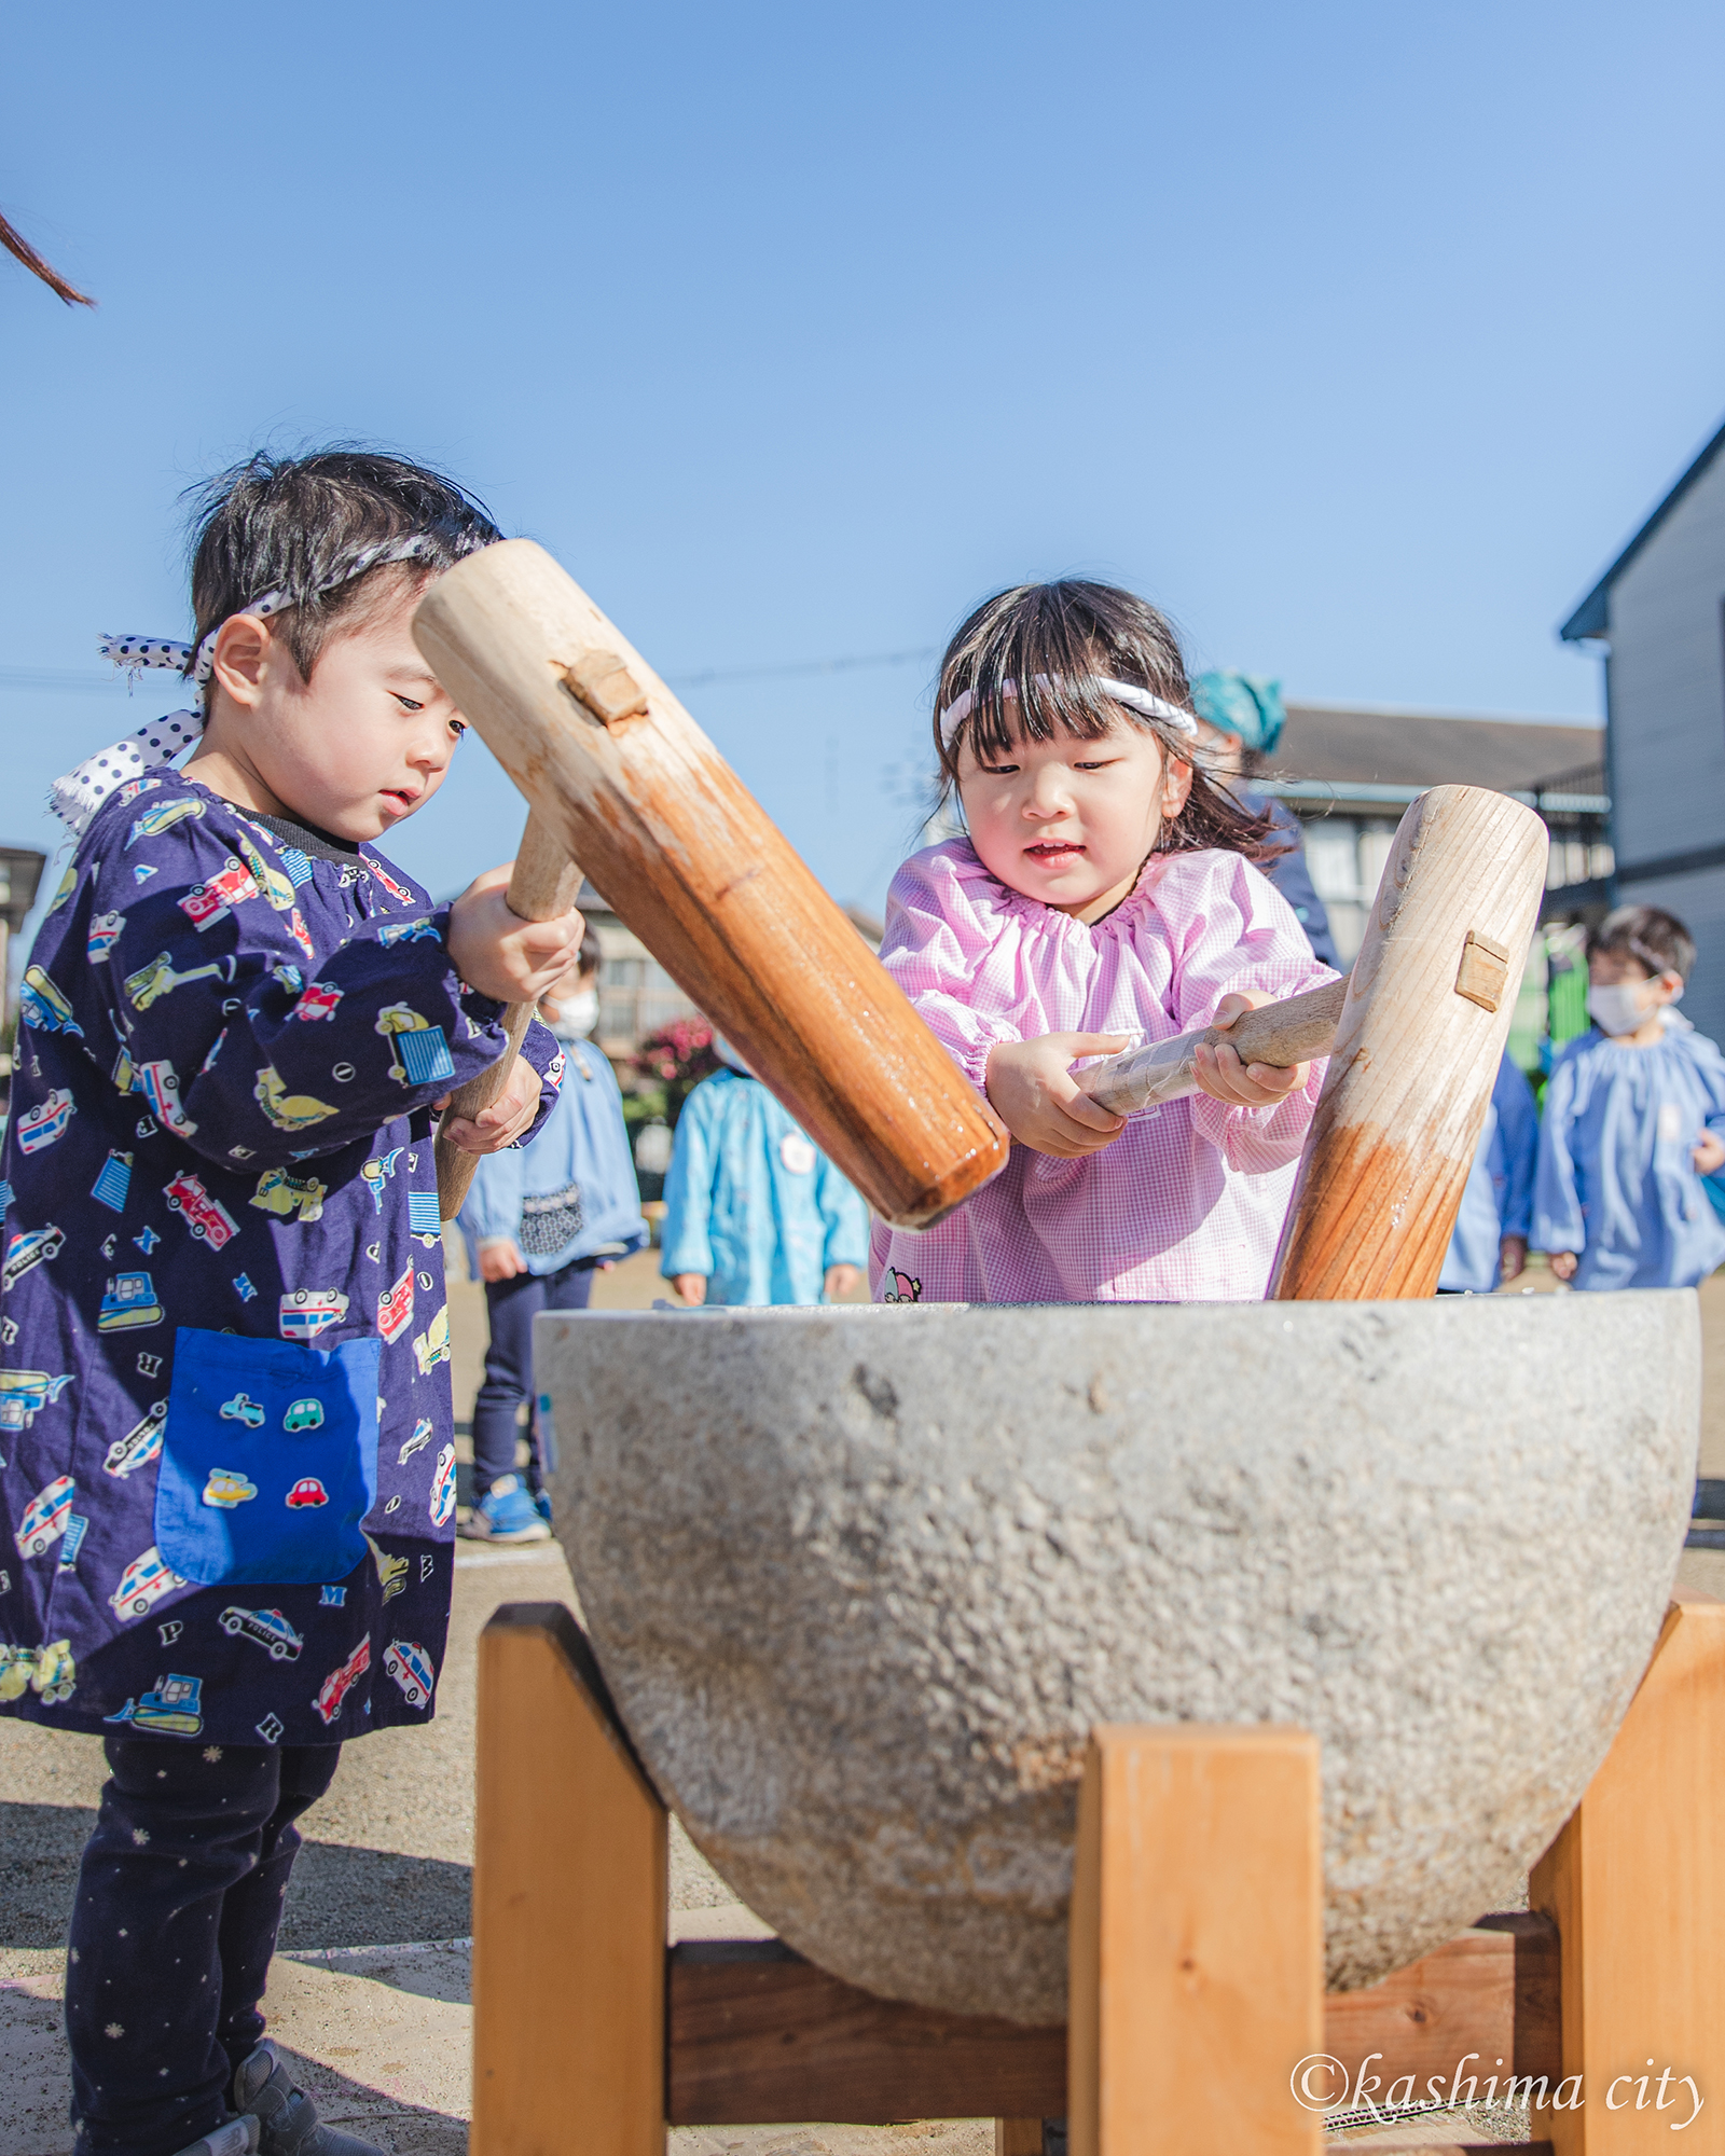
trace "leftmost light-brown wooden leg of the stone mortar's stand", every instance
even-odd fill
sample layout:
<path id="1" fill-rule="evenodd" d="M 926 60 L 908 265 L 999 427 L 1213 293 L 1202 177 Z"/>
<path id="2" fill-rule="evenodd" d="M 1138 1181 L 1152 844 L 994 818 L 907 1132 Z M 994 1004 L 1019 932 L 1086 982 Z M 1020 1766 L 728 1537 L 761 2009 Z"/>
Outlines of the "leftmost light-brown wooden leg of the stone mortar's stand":
<path id="1" fill-rule="evenodd" d="M 479 1639 L 472 2156 L 664 2156 L 666 1818 L 561 1602 Z"/>

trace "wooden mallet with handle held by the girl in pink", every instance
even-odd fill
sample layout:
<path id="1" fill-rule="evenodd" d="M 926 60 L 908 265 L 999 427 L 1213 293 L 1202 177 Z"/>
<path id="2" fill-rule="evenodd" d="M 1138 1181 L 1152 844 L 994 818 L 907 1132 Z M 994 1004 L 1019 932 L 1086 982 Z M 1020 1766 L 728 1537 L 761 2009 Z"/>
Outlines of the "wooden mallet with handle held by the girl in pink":
<path id="1" fill-rule="evenodd" d="M 1402 817 L 1348 981 L 1242 1011 L 1078 1074 L 1115 1115 L 1197 1091 L 1227 1041 L 1283 1069 L 1328 1056 L 1270 1296 L 1436 1291 L 1546 888 L 1546 826 L 1484 787 L 1432 787 Z"/>

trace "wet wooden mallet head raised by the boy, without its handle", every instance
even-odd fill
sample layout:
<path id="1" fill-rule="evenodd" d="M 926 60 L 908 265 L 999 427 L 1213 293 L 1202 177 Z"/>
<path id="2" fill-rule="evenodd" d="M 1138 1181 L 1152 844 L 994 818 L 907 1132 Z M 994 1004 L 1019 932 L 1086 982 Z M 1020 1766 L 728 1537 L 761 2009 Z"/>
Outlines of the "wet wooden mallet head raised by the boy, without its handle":
<path id="1" fill-rule="evenodd" d="M 535 821 L 882 1218 L 927 1227 L 1005 1164 L 988 1102 L 543 548 L 507 539 L 440 576 L 414 640 Z"/>

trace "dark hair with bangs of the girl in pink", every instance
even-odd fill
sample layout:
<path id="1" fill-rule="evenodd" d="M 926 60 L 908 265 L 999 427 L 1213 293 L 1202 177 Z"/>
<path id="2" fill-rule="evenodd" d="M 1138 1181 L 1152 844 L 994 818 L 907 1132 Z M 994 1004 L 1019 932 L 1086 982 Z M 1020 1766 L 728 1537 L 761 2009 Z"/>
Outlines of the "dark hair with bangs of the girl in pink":
<path id="1" fill-rule="evenodd" d="M 934 742 L 947 787 L 957 785 L 964 735 L 942 744 L 940 714 L 966 690 L 972 696 L 966 720 L 972 755 L 1005 759 L 1011 750 L 1007 683 L 1018 722 L 1033 742 L 1052 742 L 1057 733 L 1098 742 L 1121 714 L 1098 688 L 1098 677 L 1106 675 L 1182 711 L 1192 709 L 1179 640 L 1149 599 L 1080 578 L 1018 584 L 983 599 L 947 645 L 934 694 Z M 1192 765 L 1192 791 L 1179 815 L 1162 824 L 1158 854 L 1214 845 L 1261 862 L 1287 849 L 1270 815 L 1253 815 L 1197 761 L 1190 735 L 1136 711 L 1126 716 L 1154 733 L 1175 761 Z"/>

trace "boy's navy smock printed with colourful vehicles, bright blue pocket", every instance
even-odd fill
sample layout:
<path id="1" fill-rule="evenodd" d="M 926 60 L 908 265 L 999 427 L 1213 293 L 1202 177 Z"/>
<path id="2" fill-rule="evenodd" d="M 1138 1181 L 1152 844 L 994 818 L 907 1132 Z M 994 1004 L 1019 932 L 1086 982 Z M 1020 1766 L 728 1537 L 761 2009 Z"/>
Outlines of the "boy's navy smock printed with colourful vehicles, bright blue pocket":
<path id="1" fill-rule="evenodd" d="M 502 1048 L 444 927 L 373 852 L 175 772 L 84 834 L 0 1156 L 6 1712 L 235 1744 L 431 1712 L 455 1442 L 429 1104 Z M 556 1044 L 526 1054 L 550 1106 Z"/>

